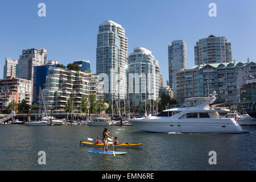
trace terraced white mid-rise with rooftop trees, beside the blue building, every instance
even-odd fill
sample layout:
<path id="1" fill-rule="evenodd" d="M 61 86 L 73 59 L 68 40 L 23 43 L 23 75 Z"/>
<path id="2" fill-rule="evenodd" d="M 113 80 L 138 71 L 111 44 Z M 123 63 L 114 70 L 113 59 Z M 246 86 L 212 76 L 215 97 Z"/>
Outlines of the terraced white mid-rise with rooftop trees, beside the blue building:
<path id="1" fill-rule="evenodd" d="M 80 106 L 82 96 L 89 97 L 92 93 L 96 100 L 102 100 L 103 94 L 98 83 L 98 76 L 91 72 L 49 68 L 46 88 L 42 90 L 46 109 L 64 109 L 69 97 L 74 106 Z"/>

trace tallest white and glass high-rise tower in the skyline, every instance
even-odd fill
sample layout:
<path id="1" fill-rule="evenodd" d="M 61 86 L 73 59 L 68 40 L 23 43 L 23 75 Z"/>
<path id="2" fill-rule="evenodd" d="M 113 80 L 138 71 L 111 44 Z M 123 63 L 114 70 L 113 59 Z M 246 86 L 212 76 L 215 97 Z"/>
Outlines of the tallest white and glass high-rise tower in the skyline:
<path id="1" fill-rule="evenodd" d="M 125 29 L 118 23 L 106 20 L 100 24 L 97 34 L 96 74 L 105 73 L 109 78 L 108 92 L 104 98 L 110 101 L 125 98 L 126 61 L 128 40 Z"/>

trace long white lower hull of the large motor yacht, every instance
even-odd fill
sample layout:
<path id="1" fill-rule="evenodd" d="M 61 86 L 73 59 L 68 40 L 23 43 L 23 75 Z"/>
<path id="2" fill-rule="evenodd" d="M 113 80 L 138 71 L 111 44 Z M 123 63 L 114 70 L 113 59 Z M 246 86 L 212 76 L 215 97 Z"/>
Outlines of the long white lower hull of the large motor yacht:
<path id="1" fill-rule="evenodd" d="M 236 121 L 150 121 L 151 119 L 131 119 L 129 122 L 138 131 L 158 132 L 158 133 L 244 133 L 241 126 Z M 212 119 L 213 120 L 213 119 Z"/>

